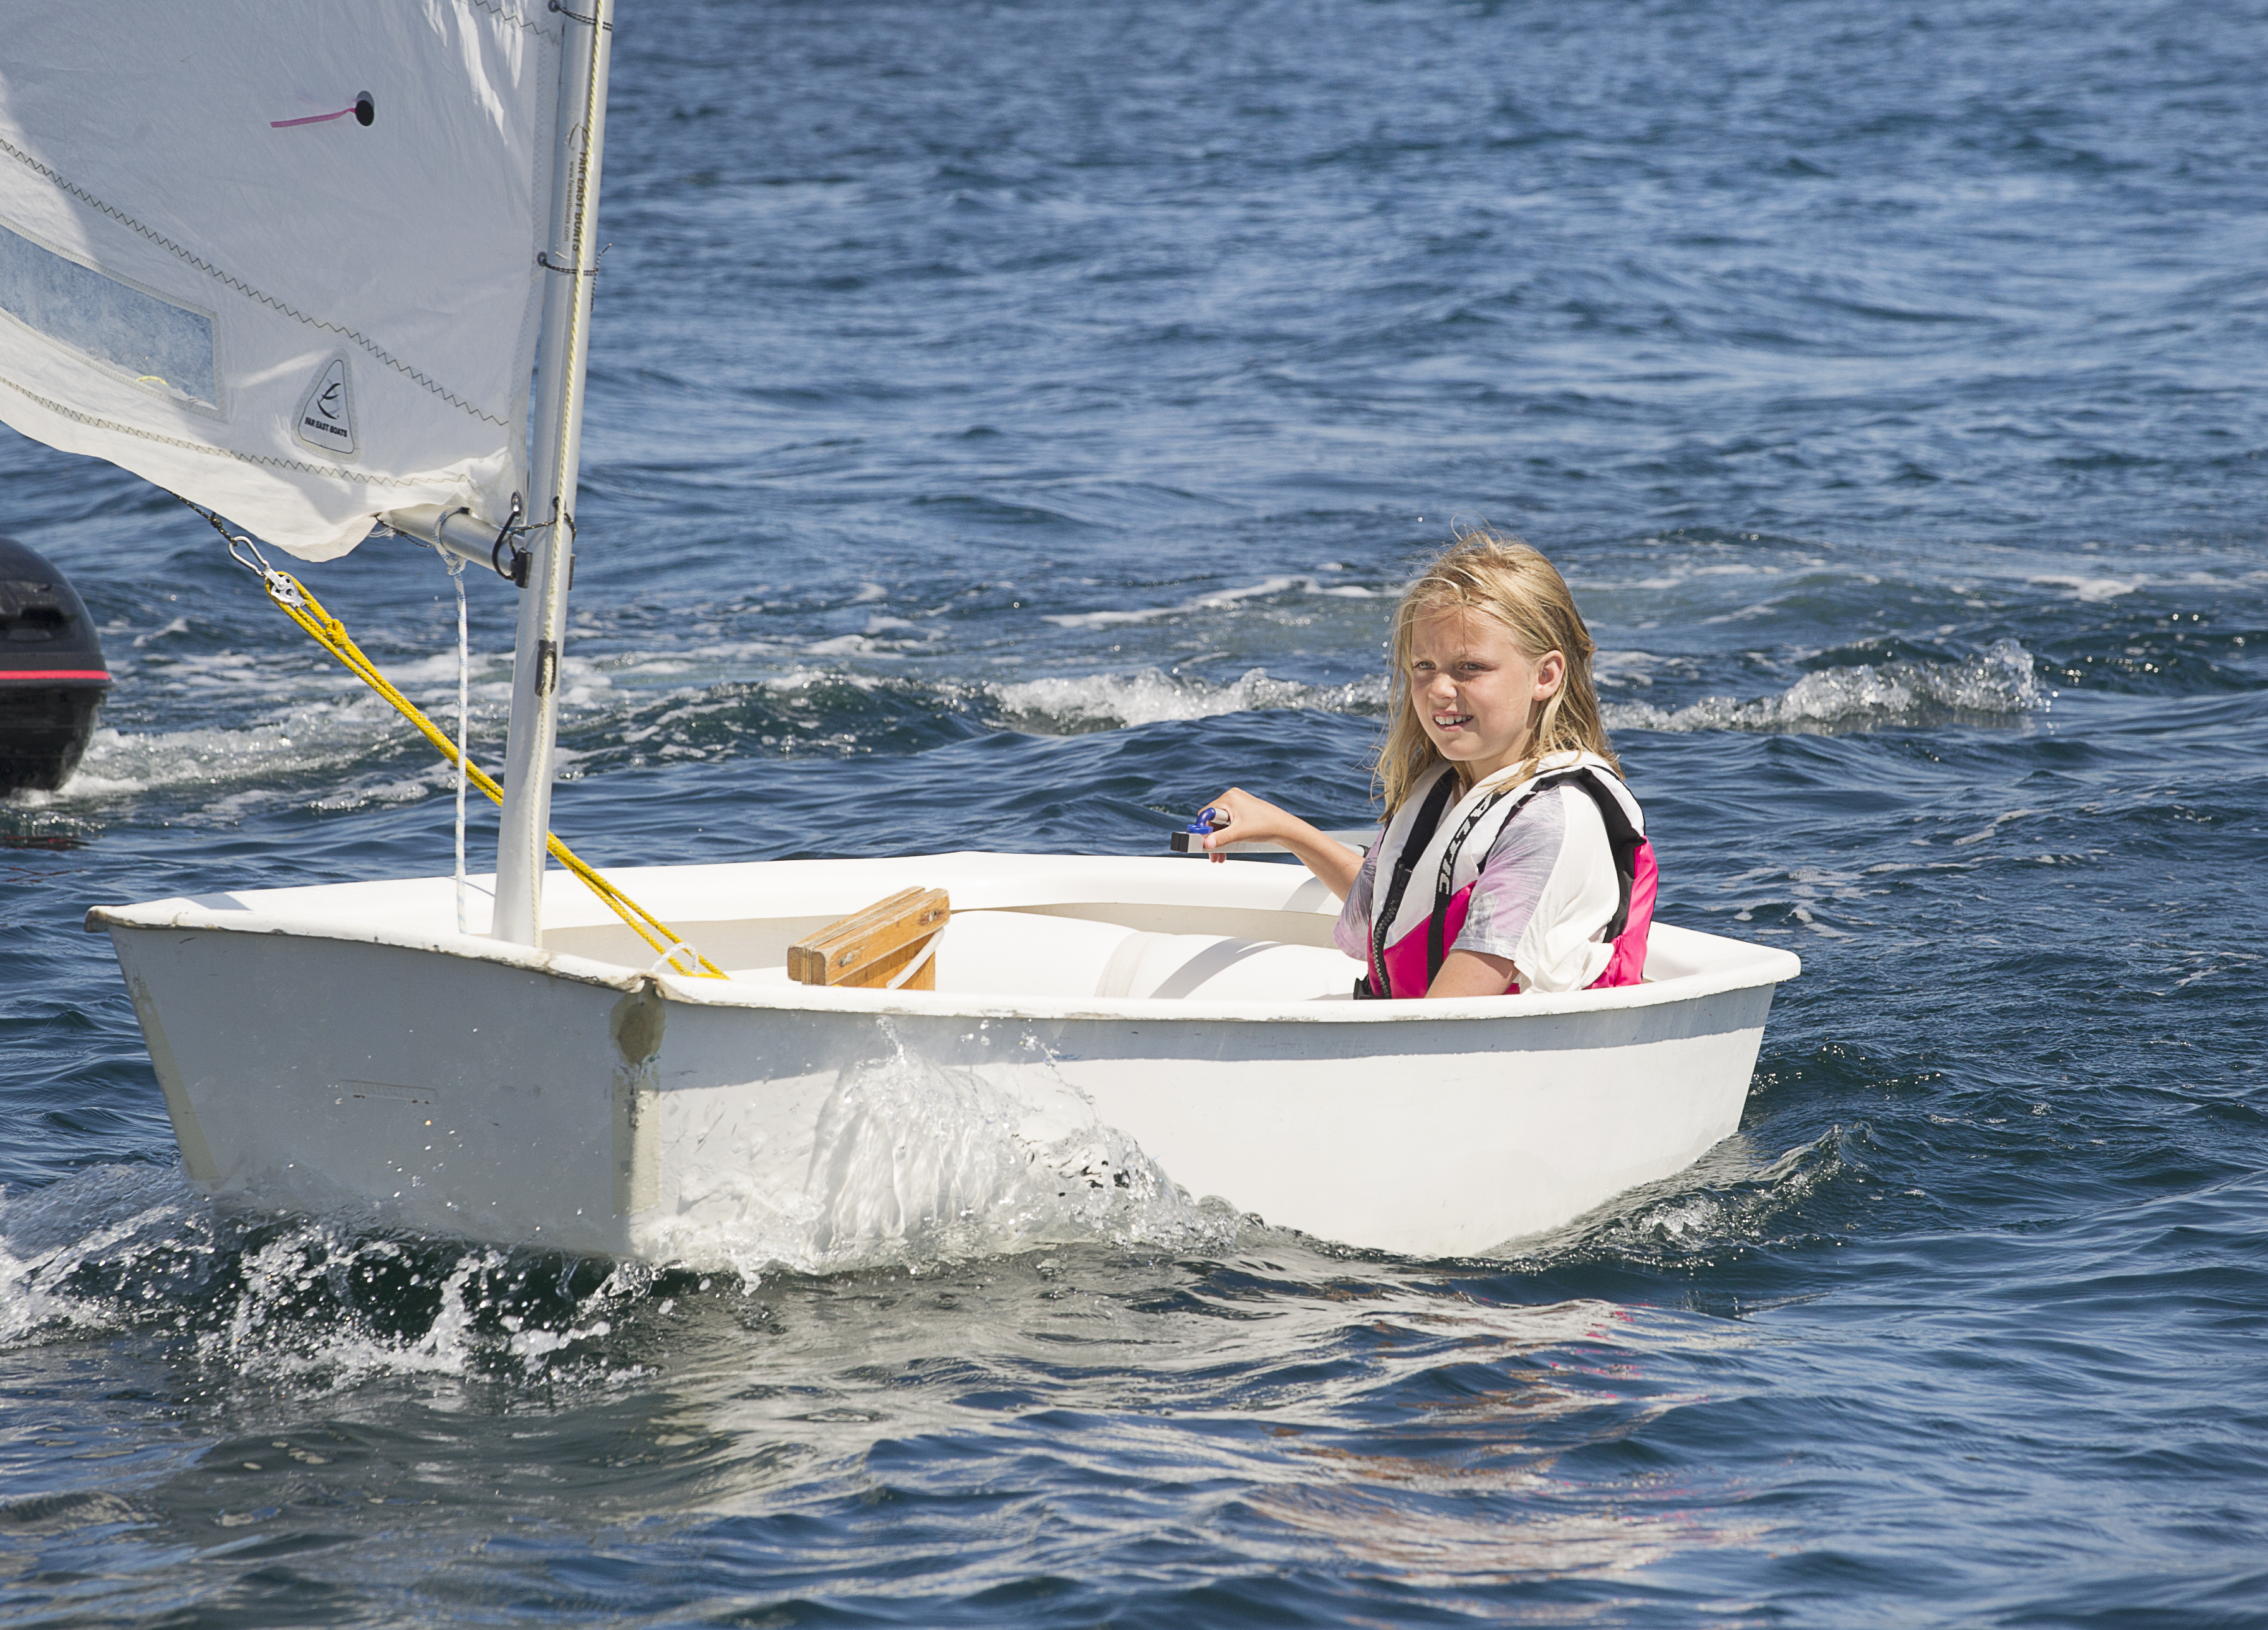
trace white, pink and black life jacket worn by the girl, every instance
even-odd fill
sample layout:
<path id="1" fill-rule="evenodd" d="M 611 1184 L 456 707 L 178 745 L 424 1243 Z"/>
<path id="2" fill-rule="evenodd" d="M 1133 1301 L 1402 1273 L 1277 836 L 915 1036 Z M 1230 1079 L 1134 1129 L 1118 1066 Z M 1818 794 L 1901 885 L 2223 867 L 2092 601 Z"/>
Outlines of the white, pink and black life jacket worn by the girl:
<path id="1" fill-rule="evenodd" d="M 1354 986 L 1359 997 L 1415 997 L 1433 986 L 1447 948 L 1456 943 L 1472 911 L 1472 889 L 1497 834 L 1533 798 L 1554 787 L 1579 787 L 1590 793 L 1615 857 L 1617 905 L 1601 934 L 1615 950 L 1590 988 L 1637 984 L 1644 977 L 1647 929 L 1653 927 L 1653 843 L 1647 841 L 1644 814 L 1622 778 L 1606 759 L 1583 753 L 1572 764 L 1556 764 L 1522 782 L 1481 782 L 1463 798 L 1456 798 L 1456 769 L 1449 764 L 1442 764 L 1431 782 L 1420 782 L 1379 837 L 1370 973 Z M 1431 898 L 1413 895 L 1413 877 L 1433 884 Z"/>

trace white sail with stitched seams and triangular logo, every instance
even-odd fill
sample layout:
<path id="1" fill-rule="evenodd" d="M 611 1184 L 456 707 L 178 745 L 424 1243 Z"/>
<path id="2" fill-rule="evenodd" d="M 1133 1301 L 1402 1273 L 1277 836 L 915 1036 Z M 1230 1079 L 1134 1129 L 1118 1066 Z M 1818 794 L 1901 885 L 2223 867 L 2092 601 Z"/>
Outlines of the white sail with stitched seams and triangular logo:
<path id="1" fill-rule="evenodd" d="M 306 560 L 526 487 L 544 0 L 9 7 L 0 419 Z"/>

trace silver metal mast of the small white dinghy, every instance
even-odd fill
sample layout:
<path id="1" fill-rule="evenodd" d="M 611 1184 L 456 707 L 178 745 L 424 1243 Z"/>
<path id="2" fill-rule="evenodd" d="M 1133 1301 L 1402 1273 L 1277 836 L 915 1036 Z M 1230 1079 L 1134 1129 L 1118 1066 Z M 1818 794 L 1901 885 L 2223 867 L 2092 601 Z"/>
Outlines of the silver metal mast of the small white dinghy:
<path id="1" fill-rule="evenodd" d="M 497 832 L 494 939 L 542 945 L 544 843 L 551 834 L 551 759 L 558 732 L 567 576 L 574 569 L 574 487 L 583 451 L 583 363 L 599 268 L 599 156 L 606 145 L 606 70 L 615 0 L 551 0 L 562 18 L 558 120 L 551 150 L 551 247 L 542 349 L 535 365 L 535 449 L 528 535 L 513 662 L 513 732 Z"/>

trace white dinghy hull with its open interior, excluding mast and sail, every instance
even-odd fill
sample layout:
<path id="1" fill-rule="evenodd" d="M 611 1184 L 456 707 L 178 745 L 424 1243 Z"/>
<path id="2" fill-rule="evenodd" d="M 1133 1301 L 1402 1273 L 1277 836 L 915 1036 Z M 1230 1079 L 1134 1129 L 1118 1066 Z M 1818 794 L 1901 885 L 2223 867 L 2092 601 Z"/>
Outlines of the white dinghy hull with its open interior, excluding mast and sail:
<path id="1" fill-rule="evenodd" d="M 1046 1145 L 1091 1106 L 1191 1195 L 1270 1224 L 1483 1251 L 1730 1134 L 1771 991 L 1799 973 L 1658 925 L 1633 988 L 1331 1000 L 1356 973 L 1325 950 L 1336 905 L 1252 861 L 932 855 L 617 882 L 735 977 L 644 973 L 644 945 L 558 873 L 547 950 L 456 934 L 445 877 L 161 900 L 88 927 L 118 948 L 200 1190 L 651 1260 L 826 1215 L 844 1095 L 900 1054 L 1005 1106 L 1002 1138 Z M 912 884 L 953 893 L 939 991 L 785 982 L 794 939 Z"/>

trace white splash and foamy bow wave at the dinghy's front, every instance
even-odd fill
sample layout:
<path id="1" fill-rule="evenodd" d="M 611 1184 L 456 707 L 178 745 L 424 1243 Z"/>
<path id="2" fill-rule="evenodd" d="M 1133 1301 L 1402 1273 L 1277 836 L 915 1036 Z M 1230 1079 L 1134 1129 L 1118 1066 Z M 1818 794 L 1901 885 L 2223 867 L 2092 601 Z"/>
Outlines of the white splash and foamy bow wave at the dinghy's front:
<path id="1" fill-rule="evenodd" d="M 0 1351 L 125 1331 L 313 1390 L 386 1374 L 603 1378 L 640 1365 L 631 1322 L 712 1283 L 923 1274 L 1039 1247 L 1234 1247 L 1243 1224 L 1222 1202 L 1193 1202 L 1050 1075 L 1036 1056 L 1007 1095 L 905 1047 L 848 1070 L 821 1118 L 810 1204 L 689 1229 L 662 1265 L 234 1215 L 177 1165 L 0 1188 Z"/>

